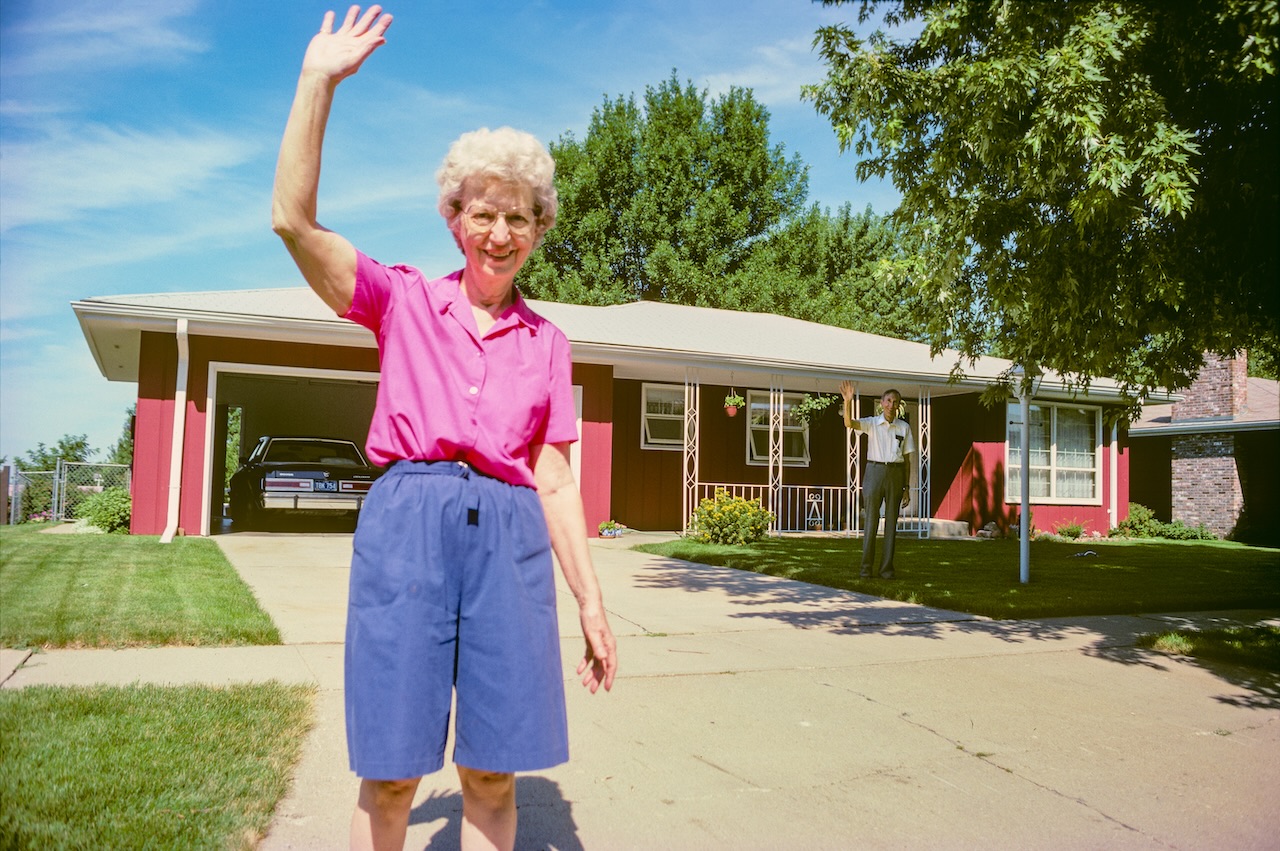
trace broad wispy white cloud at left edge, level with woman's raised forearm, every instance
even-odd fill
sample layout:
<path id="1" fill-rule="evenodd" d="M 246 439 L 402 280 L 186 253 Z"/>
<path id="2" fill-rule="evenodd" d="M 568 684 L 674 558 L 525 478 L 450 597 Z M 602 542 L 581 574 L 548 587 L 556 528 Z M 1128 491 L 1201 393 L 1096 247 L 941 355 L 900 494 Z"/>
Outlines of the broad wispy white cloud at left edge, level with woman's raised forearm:
<path id="1" fill-rule="evenodd" d="M 242 137 L 204 128 L 147 133 L 50 124 L 44 138 L 0 142 L 0 232 L 173 201 L 259 152 Z"/>

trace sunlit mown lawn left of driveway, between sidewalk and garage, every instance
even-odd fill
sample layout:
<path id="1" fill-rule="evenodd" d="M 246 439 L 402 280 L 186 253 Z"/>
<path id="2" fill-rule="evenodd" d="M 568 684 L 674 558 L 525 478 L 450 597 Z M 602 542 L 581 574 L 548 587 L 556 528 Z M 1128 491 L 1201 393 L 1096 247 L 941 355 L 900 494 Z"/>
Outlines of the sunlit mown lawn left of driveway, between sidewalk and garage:
<path id="1" fill-rule="evenodd" d="M 0 526 L 0 646 L 279 644 L 214 541 Z"/>

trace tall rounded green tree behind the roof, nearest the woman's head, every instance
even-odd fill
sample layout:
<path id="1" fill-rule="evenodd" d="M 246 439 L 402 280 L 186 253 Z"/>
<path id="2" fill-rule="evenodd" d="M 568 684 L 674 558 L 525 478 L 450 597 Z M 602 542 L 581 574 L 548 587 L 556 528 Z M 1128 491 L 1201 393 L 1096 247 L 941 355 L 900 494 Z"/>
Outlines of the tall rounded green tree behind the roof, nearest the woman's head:
<path id="1" fill-rule="evenodd" d="M 714 301 L 751 246 L 795 215 L 808 169 L 768 139 L 750 90 L 710 100 L 675 73 L 605 99 L 556 157 L 559 221 L 522 274 L 530 294 L 611 305 Z"/>

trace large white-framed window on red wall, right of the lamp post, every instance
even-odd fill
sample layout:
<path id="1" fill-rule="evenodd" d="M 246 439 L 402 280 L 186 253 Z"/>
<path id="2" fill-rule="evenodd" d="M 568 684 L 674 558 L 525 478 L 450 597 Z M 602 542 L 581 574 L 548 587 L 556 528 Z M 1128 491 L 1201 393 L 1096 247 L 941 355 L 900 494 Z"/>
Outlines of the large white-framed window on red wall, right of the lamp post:
<path id="1" fill-rule="evenodd" d="M 1005 500 L 1021 500 L 1021 407 L 1009 403 Z M 1098 468 L 1102 411 L 1066 404 L 1030 406 L 1025 434 L 1030 441 L 1030 498 L 1042 503 L 1102 504 Z"/>

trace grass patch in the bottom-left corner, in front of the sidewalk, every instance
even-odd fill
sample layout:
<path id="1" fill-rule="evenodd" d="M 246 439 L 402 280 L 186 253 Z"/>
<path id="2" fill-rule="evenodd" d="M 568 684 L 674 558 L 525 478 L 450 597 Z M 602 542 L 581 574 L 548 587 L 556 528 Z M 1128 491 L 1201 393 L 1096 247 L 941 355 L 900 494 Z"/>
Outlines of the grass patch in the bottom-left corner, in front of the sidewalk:
<path id="1" fill-rule="evenodd" d="M 0 847 L 252 848 L 311 726 L 315 688 L 0 691 Z"/>

